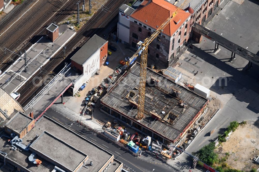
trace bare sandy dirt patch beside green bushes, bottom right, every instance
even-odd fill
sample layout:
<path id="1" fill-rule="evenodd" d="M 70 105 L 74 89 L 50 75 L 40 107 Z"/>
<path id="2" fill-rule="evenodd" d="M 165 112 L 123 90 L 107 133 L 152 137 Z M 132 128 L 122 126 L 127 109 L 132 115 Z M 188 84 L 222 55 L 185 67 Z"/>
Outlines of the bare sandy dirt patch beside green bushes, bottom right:
<path id="1" fill-rule="evenodd" d="M 227 142 L 217 148 L 219 158 L 229 157 L 226 163 L 229 167 L 250 171 L 259 168 L 253 161 L 259 155 L 259 121 L 247 121 L 235 130 Z"/>

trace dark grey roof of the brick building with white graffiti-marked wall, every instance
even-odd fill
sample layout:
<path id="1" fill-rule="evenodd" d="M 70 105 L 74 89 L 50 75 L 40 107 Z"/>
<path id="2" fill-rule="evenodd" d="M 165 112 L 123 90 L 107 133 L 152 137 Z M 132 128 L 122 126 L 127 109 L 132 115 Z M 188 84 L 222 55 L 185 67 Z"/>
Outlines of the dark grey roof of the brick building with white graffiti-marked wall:
<path id="1" fill-rule="evenodd" d="M 84 46 L 82 46 L 70 59 L 82 65 L 106 42 L 106 40 L 99 37 L 98 35 L 93 35 L 93 37 L 91 37 L 91 39 L 87 41 L 87 43 L 84 44 Z"/>

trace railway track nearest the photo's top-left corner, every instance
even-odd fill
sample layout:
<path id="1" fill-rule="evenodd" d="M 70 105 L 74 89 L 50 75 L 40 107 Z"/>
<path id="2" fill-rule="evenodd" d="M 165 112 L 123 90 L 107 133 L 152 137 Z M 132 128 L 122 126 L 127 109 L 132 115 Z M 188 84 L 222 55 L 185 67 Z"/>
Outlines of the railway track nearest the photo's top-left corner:
<path id="1" fill-rule="evenodd" d="M 0 33 L 1 31 L 11 24 L 11 22 L 17 18 L 17 16 L 28 6 L 30 5 L 34 0 L 26 0 L 20 5 L 16 5 L 14 9 L 8 13 L 1 21 L 0 21 Z"/>

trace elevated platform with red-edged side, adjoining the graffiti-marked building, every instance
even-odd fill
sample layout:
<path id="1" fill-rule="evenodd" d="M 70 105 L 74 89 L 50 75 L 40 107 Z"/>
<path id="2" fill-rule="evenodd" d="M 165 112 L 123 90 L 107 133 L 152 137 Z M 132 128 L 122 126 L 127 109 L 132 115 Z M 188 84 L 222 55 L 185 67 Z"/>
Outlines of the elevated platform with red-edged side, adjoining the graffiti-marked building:
<path id="1" fill-rule="evenodd" d="M 25 107 L 25 110 L 31 108 L 33 115 L 38 117 L 60 97 L 63 93 L 75 83 L 81 75 L 70 68 L 71 64 L 64 67 L 55 77 L 42 89 Z"/>

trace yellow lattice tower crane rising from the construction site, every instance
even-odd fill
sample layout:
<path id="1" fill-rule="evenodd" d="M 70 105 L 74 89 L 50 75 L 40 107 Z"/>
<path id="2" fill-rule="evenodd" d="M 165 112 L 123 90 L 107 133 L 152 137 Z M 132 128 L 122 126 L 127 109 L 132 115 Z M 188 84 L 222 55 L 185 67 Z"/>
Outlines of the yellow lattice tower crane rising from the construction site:
<path id="1" fill-rule="evenodd" d="M 140 60 L 140 81 L 139 81 L 139 102 L 138 102 L 138 114 L 136 119 L 141 120 L 144 115 L 144 103 L 145 103 L 145 86 L 146 86 L 146 74 L 147 74 L 147 49 L 148 45 L 161 33 L 163 29 L 169 24 L 169 22 L 176 16 L 179 10 L 186 5 L 185 0 L 177 9 L 170 15 L 170 17 L 159 27 L 157 30 L 143 42 L 139 41 L 137 44 L 138 50 L 135 54 L 126 62 L 126 65 L 131 65 L 134 60 L 141 55 Z"/>

